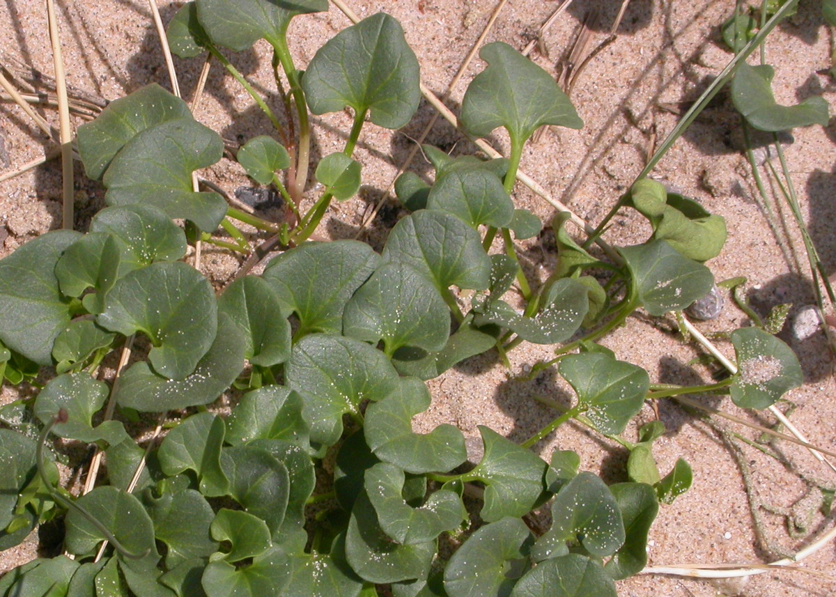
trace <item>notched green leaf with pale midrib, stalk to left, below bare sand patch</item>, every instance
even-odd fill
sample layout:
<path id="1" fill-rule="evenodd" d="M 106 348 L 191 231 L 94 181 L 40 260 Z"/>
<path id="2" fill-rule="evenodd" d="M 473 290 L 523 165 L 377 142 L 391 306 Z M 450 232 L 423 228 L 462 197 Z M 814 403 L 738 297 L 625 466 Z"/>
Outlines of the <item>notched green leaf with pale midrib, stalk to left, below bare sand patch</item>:
<path id="1" fill-rule="evenodd" d="M 545 486 L 546 463 L 536 454 L 479 426 L 485 455 L 468 479 L 485 483 L 480 516 L 489 523 L 506 516 L 523 516 L 540 501 Z"/>

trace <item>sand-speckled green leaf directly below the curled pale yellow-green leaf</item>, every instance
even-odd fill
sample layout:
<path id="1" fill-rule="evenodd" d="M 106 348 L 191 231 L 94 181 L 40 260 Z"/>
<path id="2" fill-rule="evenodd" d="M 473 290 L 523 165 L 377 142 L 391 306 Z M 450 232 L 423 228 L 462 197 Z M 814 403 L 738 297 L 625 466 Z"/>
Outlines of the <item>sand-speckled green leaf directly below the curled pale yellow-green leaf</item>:
<path id="1" fill-rule="evenodd" d="M 619 249 L 633 277 L 634 292 L 651 315 L 681 311 L 714 285 L 711 270 L 682 257 L 665 241 Z"/>

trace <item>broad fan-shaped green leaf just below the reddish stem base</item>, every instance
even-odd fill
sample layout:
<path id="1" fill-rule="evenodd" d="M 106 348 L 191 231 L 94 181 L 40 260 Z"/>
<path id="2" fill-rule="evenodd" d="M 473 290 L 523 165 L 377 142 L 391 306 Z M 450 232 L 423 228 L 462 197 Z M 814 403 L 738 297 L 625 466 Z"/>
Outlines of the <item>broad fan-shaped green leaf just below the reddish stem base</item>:
<path id="1" fill-rule="evenodd" d="M 306 242 L 273 259 L 264 279 L 297 314 L 297 338 L 316 331 L 339 334 L 345 304 L 379 260 L 364 242 Z"/>

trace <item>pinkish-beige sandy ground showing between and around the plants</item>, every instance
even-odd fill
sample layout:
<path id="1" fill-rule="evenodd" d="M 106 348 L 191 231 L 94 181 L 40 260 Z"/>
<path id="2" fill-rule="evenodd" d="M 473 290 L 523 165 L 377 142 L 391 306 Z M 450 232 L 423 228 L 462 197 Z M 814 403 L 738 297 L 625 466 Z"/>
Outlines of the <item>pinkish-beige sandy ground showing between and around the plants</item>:
<path id="1" fill-rule="evenodd" d="M 594 48 L 607 39 L 619 4 L 612 0 L 576 0 L 543 36 L 548 56 L 535 50 L 533 59 L 557 76 L 590 11 L 599 13 L 590 39 Z M 675 126 L 683 102 L 696 99 L 731 58 L 718 33 L 718 25 L 730 13 L 730 4 L 719 0 L 632 0 L 616 37 L 604 45 L 573 84 L 571 98 L 584 119 L 583 130 L 548 130 L 541 140 L 528 145 L 523 171 L 579 217 L 599 222 L 630 186 L 646 163 L 649 151 Z M 421 61 L 422 81 L 435 94 L 444 95 L 497 2 L 352 0 L 350 5 L 360 16 L 386 10 L 398 18 Z M 507 3 L 486 41 L 501 40 L 524 48 L 557 5 L 541 0 Z M 802 2 L 798 15 L 770 37 L 767 62 L 777 67 L 773 89 L 780 103 L 796 103 L 810 95 L 823 94 L 832 104 L 836 96 L 833 79 L 826 73 L 832 33 L 823 25 L 818 5 Z M 167 21 L 179 3 L 160 2 L 159 6 Z M 59 3 L 58 11 L 71 89 L 94 99 L 111 100 L 152 81 L 169 87 L 146 3 Z M 298 64 L 307 64 L 316 48 L 347 24 L 348 20 L 334 7 L 329 13 L 294 21 L 291 47 Z M 43 74 L 53 73 L 43 3 L 3 3 L 0 37 L 5 40 L 0 59 L 4 66 L 25 64 Z M 266 44 L 257 43 L 252 51 L 237 54 L 232 60 L 258 88 L 272 89 Z M 176 67 L 184 97 L 191 100 L 201 59 L 177 60 Z M 466 70 L 463 81 L 449 90 L 446 104 L 452 110 L 457 110 L 466 82 L 480 69 L 482 63 L 477 59 Z M 219 130 L 232 143 L 268 132 L 268 122 L 247 94 L 217 65 L 206 89 L 196 110 L 197 120 Z M 38 110 L 50 122 L 57 123 L 54 110 Z M 380 199 L 390 186 L 410 151 L 411 139 L 421 134 L 432 114 L 432 108 L 422 103 L 415 120 L 404 130 L 393 133 L 375 125 L 366 127 L 356 154 L 364 165 L 364 186 L 359 196 L 331 208 L 319 229 L 320 236 L 354 237 L 370 202 Z M 76 118 L 74 123 L 81 121 Z M 314 155 L 323 156 L 341 149 L 350 115 L 315 117 L 314 125 Z M 834 451 L 832 353 L 821 330 L 813 328 L 812 335 L 805 339 L 793 338 L 792 334 L 793 319 L 804 305 L 813 303 L 801 237 L 788 207 L 771 200 L 767 210 L 757 196 L 751 171 L 739 151 L 740 137 L 739 119 L 727 94 L 721 94 L 655 168 L 653 176 L 726 218 L 729 239 L 721 255 L 708 263 L 717 280 L 745 276 L 744 294 L 762 315 L 776 304 L 793 304 L 789 322 L 780 336 L 801 360 L 805 384 L 787 396 L 794 406 L 791 420 L 811 441 Z M 794 130 L 793 142 L 786 146 L 802 214 L 828 273 L 836 272 L 834 137 L 836 129 L 832 124 L 813 126 Z M 490 141 L 499 151 L 507 150 L 507 139 L 498 131 Z M 445 151 L 473 149 L 443 121 L 431 130 L 427 142 Z M 33 127 L 22 110 L 8 104 L 0 107 L 0 171 L 10 171 L 53 149 L 54 144 Z M 421 175 L 431 174 L 420 155 L 412 167 Z M 104 193 L 98 182 L 81 176 L 80 166 L 76 174 L 77 228 L 84 231 L 89 217 L 101 206 Z M 251 184 L 242 169 L 226 158 L 202 176 L 229 192 Z M 0 257 L 60 226 L 60 196 L 59 161 L 50 161 L 0 183 Z M 313 196 L 313 192 L 308 192 L 309 202 Z M 514 198 L 517 207 L 533 210 L 543 222 L 550 222 L 555 214 L 551 205 L 521 185 Z M 367 234 L 375 247 L 380 248 L 385 232 L 399 214 L 398 207 L 391 203 L 381 210 Z M 606 239 L 615 245 L 642 242 L 648 232 L 640 217 L 624 212 L 614 219 Z M 553 270 L 556 253 L 551 232 L 521 242 L 518 252 L 529 278 L 542 282 Z M 222 283 L 238 266 L 237 258 L 213 250 L 206 251 L 202 264 L 214 283 Z M 747 315 L 730 304 L 726 296 L 721 316 L 697 325 L 703 333 L 712 334 L 748 324 Z M 673 319 L 635 316 L 610 334 L 604 344 L 619 359 L 645 367 L 655 383 L 709 382 L 717 371 L 716 365 L 701 365 L 704 350 L 693 342 L 684 342 L 674 330 Z M 725 339 L 716 343 L 726 355 L 733 355 L 732 346 Z M 440 421 L 455 422 L 475 440 L 477 426 L 487 425 L 512 440 L 523 441 L 556 416 L 555 411 L 535 401 L 536 396 L 563 403 L 569 399 L 568 387 L 558 381 L 553 370 L 533 381 L 516 379 L 550 353 L 549 347 L 523 344 L 511 354 L 511 370 L 502 367 L 492 354 L 456 367 L 431 381 L 433 405 L 418 426 L 426 430 Z M 3 403 L 13 400 L 18 391 L 31 395 L 31 390 L 25 388 L 4 388 L 0 395 Z M 770 413 L 741 411 L 728 399 L 704 402 L 758 425 L 775 424 Z M 787 410 L 788 405 L 780 408 Z M 769 457 L 730 435 L 754 440 L 759 436 L 756 431 L 716 417 L 701 420 L 668 401 L 660 403 L 659 416 L 667 428 L 665 436 L 654 446 L 660 470 L 664 474 L 678 458 L 685 458 L 693 467 L 694 484 L 675 503 L 660 508 L 650 531 L 650 564 L 766 563 L 795 553 L 833 526 L 819 512 L 821 499 L 816 487 L 832 489 L 836 486 L 836 473 L 808 452 L 782 441 L 766 446 L 777 455 Z M 654 417 L 655 413 L 646 407 L 624 436 L 635 439 L 637 426 Z M 538 444 L 547 458 L 555 448 L 578 451 L 582 468 L 600 472 L 607 482 L 624 480 L 624 449 L 582 426 L 569 423 Z M 760 519 L 758 525 L 750 503 Z M 804 527 L 801 538 L 788 534 L 788 524 L 795 523 Z M 31 559 L 34 541 L 0 554 L 0 570 Z M 836 550 L 831 543 L 800 566 L 828 576 L 770 570 L 752 579 L 715 586 L 705 580 L 642 574 L 620 582 L 619 594 L 828 595 L 836 592 L 834 563 Z"/>

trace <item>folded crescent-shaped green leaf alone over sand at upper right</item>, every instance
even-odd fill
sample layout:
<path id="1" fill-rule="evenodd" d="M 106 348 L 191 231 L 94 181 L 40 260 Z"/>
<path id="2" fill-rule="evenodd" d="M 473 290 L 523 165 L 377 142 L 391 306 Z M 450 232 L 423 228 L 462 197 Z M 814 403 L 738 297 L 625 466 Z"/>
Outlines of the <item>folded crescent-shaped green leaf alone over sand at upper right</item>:
<path id="1" fill-rule="evenodd" d="M 743 118 L 757 130 L 777 132 L 796 126 L 827 126 L 828 102 L 822 97 L 805 99 L 798 105 L 778 105 L 772 95 L 775 69 L 769 64 L 741 63 L 732 79 L 732 102 Z"/>

